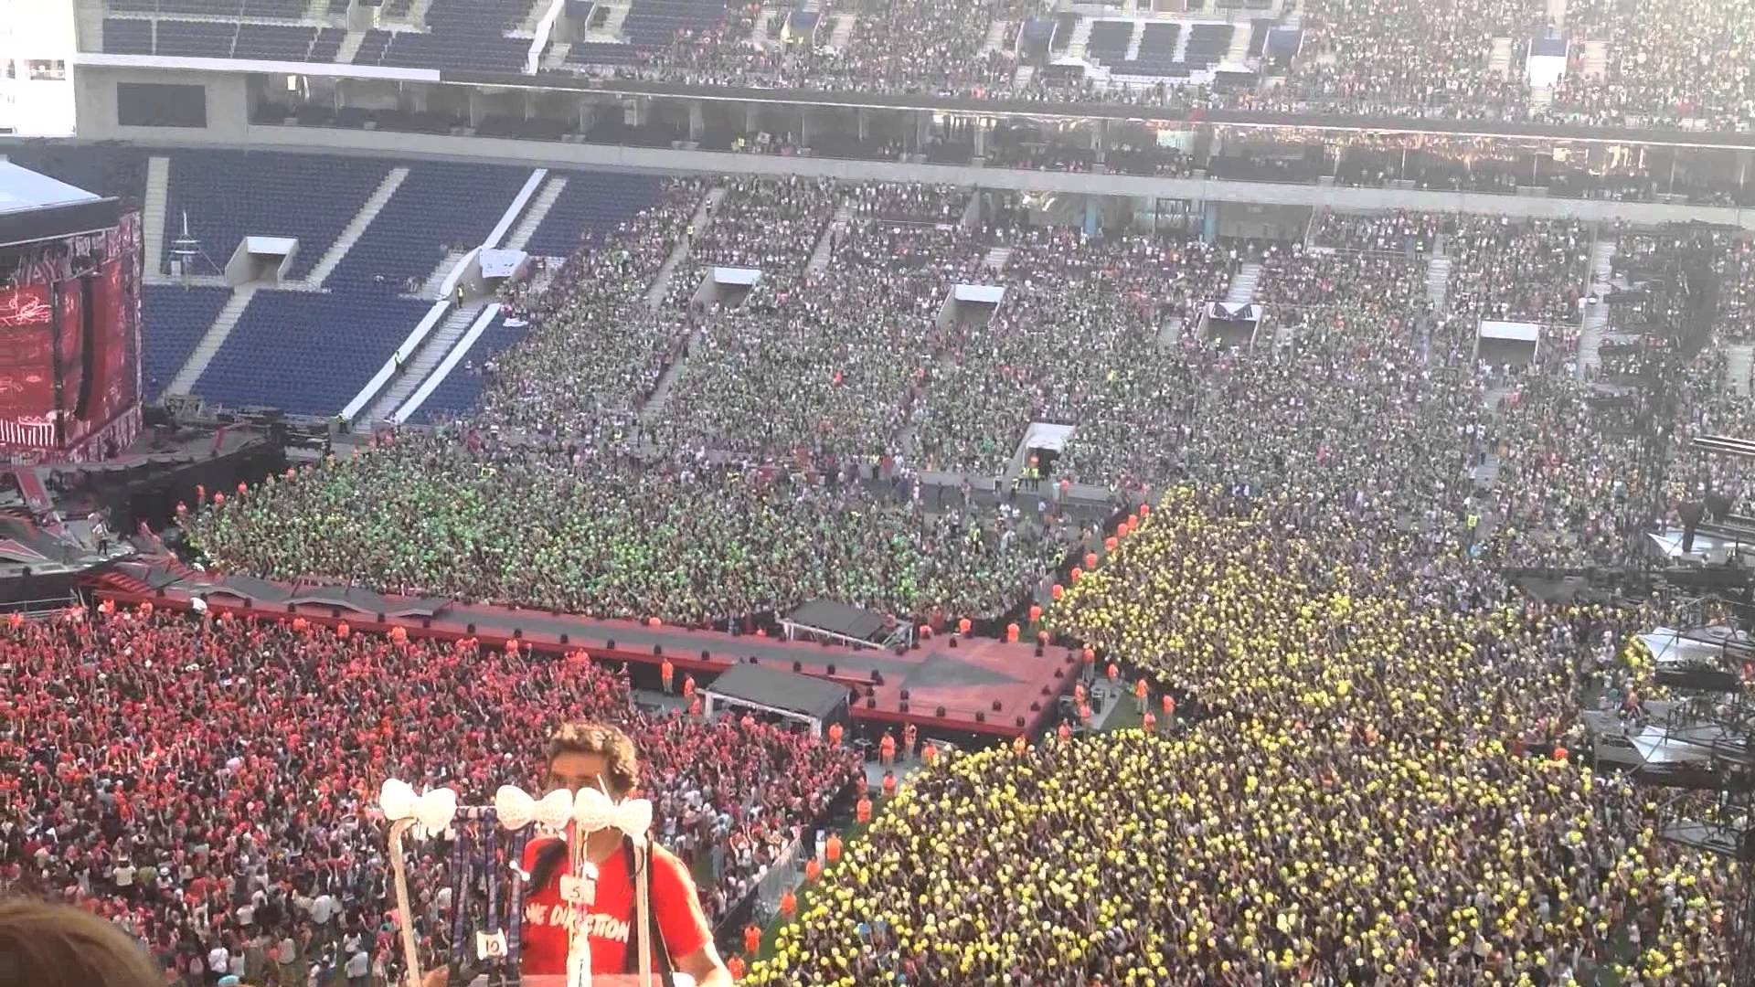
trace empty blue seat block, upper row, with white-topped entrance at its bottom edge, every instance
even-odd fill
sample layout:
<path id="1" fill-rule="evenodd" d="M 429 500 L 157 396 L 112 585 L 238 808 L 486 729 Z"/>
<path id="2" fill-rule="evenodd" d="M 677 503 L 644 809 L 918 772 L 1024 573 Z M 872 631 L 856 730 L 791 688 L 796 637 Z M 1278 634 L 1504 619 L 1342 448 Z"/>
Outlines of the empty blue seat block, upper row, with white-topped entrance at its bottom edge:
<path id="1" fill-rule="evenodd" d="M 165 235 L 190 235 L 219 267 L 246 235 L 298 237 L 293 276 L 323 256 L 390 165 L 370 158 L 183 151 L 170 156 Z"/>

